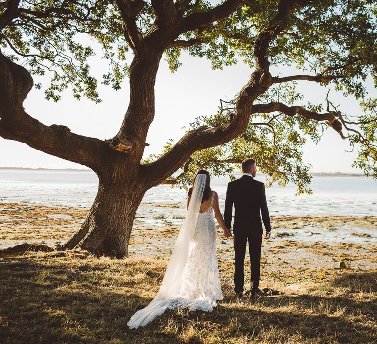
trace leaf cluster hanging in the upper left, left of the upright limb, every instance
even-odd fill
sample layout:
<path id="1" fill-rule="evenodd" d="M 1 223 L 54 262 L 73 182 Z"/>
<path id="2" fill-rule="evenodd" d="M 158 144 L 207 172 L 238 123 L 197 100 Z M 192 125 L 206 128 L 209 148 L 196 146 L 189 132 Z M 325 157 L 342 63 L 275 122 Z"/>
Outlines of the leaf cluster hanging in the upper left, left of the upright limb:
<path id="1" fill-rule="evenodd" d="M 43 85 L 46 99 L 58 101 L 70 87 L 76 99 L 84 96 L 100 102 L 98 80 L 88 63 L 95 50 L 81 43 L 88 35 L 100 44 L 109 61 L 102 82 L 119 89 L 128 73 L 128 48 L 120 15 L 106 0 L 21 1 L 19 16 L 1 32 L 1 50 L 14 61 L 22 61 L 31 74 L 50 75 L 51 84 Z"/>

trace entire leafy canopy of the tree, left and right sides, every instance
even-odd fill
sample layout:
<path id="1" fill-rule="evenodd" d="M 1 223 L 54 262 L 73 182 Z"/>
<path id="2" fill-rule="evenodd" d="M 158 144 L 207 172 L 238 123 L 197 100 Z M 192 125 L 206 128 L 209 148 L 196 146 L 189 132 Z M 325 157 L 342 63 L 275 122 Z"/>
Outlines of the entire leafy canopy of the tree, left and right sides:
<path id="1" fill-rule="evenodd" d="M 177 0 L 176 2 L 184 2 Z M 185 1 L 187 2 L 187 1 Z M 0 14 L 7 2 L 0 3 Z M 191 1 L 186 15 L 203 12 L 214 3 Z M 238 63 L 243 59 L 254 67 L 254 42 L 268 28 L 276 15 L 275 1 L 248 0 L 227 19 L 214 22 L 204 29 L 189 31 L 179 39 L 195 41 L 188 47 L 172 47 L 165 52 L 172 71 L 181 65 L 183 49 L 191 56 L 204 57 L 212 67 Z M 142 35 L 155 22 L 150 1 L 136 17 Z M 95 50 L 87 38 L 100 44 L 102 58 L 108 60 L 108 73 L 100 82 L 115 90 L 128 76 L 129 47 L 122 29 L 122 19 L 114 1 L 107 0 L 29 0 L 20 1 L 19 14 L 1 31 L 1 49 L 14 61 L 22 61 L 31 74 L 50 73 L 50 85 L 44 88 L 47 99 L 57 101 L 60 93 L 71 88 L 75 98 L 87 97 L 100 102 L 98 80 L 91 74 L 88 57 Z M 84 43 L 82 43 L 84 42 Z M 359 147 L 354 166 L 367 175 L 377 176 L 376 104 L 368 98 L 364 83 L 369 76 L 377 86 L 377 2 L 375 0 L 320 0 L 292 11 L 285 29 L 272 41 L 268 58 L 272 65 L 296 65 L 299 73 L 321 74 L 321 85 L 332 84 L 344 96 L 360 101 L 363 115 L 350 119 L 342 114 L 342 124 L 349 128 L 345 137 Z M 256 103 L 283 102 L 297 105 L 304 102 L 294 81 L 278 83 L 262 94 Z M 216 126 L 228 121 L 234 111 L 234 101 L 222 106 L 217 114 L 199 117 L 190 128 Z M 328 111 L 332 104 L 328 102 Z M 305 109 L 320 112 L 321 104 L 307 103 Z M 337 110 L 332 107 L 331 110 Z M 357 123 L 357 124 L 354 124 Z M 307 138 L 320 140 L 323 123 L 300 115 L 256 113 L 251 115 L 247 130 L 230 143 L 195 152 L 184 166 L 184 173 L 173 178 L 174 183 L 187 186 L 197 168 L 207 168 L 215 175 L 234 169 L 234 163 L 245 156 L 257 157 L 260 168 L 270 182 L 285 185 L 292 181 L 298 193 L 310 192 L 309 167 L 302 160 L 301 147 Z M 169 150 L 169 142 L 165 151 Z M 152 161 L 151 156 L 145 162 Z"/>

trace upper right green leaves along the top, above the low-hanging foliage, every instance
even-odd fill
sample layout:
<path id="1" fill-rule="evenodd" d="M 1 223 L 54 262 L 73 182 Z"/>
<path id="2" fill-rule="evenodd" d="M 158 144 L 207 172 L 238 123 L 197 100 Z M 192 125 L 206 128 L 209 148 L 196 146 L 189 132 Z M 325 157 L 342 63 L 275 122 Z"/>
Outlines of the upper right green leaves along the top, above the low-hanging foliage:
<path id="1" fill-rule="evenodd" d="M 375 1 L 323 0 L 296 8 L 286 29 L 269 46 L 270 62 L 277 66 L 295 64 L 314 75 L 326 71 L 326 76 L 337 76 L 331 81 L 337 90 L 364 97 L 367 75 L 377 83 L 376 6 Z M 274 1 L 247 3 L 226 20 L 212 23 L 200 32 L 187 33 L 185 38 L 204 42 L 190 47 L 189 52 L 208 58 L 216 69 L 236 63 L 238 56 L 253 67 L 254 41 L 269 27 L 276 13 Z M 175 52 L 171 58 L 179 66 L 179 54 Z"/>

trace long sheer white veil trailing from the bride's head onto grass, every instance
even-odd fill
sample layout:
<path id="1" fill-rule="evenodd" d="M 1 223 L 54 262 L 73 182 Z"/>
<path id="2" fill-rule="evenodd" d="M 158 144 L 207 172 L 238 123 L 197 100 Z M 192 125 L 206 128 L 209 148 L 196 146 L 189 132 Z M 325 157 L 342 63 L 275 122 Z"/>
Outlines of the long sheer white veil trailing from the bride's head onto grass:
<path id="1" fill-rule="evenodd" d="M 157 315 L 161 315 L 170 303 L 179 297 L 181 275 L 188 258 L 189 243 L 195 233 L 206 179 L 204 174 L 196 175 L 187 214 L 175 242 L 160 289 L 145 308 L 137 311 L 131 317 L 127 323 L 130 328 L 145 326 Z"/>

